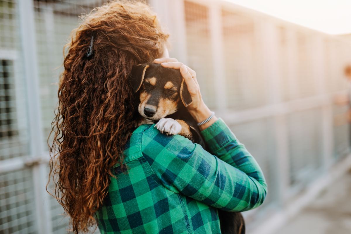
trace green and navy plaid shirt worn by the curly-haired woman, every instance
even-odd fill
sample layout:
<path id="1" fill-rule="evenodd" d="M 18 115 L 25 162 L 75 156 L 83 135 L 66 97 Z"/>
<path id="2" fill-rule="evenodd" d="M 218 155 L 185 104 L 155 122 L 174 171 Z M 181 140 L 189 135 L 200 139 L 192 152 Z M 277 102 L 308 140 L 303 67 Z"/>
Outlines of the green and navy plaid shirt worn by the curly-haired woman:
<path id="1" fill-rule="evenodd" d="M 224 121 L 201 134 L 212 154 L 154 125 L 138 127 L 126 146 L 126 169 L 113 168 L 104 206 L 95 213 L 101 234 L 221 233 L 217 208 L 261 205 L 263 173 Z"/>

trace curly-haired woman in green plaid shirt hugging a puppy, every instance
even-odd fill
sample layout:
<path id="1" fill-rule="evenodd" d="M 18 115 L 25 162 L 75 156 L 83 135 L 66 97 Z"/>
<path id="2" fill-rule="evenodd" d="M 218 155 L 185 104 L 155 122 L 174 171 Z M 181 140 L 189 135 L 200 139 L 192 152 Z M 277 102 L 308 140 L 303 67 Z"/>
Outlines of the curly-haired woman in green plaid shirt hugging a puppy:
<path id="1" fill-rule="evenodd" d="M 220 233 L 217 208 L 249 210 L 266 196 L 257 162 L 216 116 L 200 126 L 213 155 L 154 125 L 138 127 L 128 78 L 133 65 L 147 61 L 180 69 L 189 112 L 198 122 L 211 115 L 196 73 L 160 58 L 167 38 L 150 8 L 130 1 L 95 9 L 72 33 L 50 165 L 76 233 L 96 223 L 101 233 Z"/>

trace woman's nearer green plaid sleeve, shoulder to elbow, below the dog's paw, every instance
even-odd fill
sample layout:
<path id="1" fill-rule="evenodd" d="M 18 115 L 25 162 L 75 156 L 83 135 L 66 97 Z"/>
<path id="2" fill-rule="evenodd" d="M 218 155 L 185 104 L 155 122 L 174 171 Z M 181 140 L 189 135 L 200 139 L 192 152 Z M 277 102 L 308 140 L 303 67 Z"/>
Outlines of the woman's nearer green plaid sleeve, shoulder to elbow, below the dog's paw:
<path id="1" fill-rule="evenodd" d="M 143 133 L 141 151 L 163 186 L 227 211 L 244 211 L 262 204 L 266 195 L 264 179 L 258 181 L 187 138 L 161 134 L 153 126 Z M 219 144 L 235 154 L 243 150 L 228 139 Z M 257 163 L 252 167 L 258 167 Z"/>

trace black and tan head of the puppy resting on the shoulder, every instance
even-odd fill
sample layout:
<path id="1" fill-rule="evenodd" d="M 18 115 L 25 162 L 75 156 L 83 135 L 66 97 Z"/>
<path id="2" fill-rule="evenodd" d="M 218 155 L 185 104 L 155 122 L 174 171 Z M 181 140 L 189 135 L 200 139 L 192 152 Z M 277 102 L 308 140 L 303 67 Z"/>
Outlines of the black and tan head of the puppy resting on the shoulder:
<path id="1" fill-rule="evenodd" d="M 149 120 L 159 120 L 177 111 L 180 102 L 191 104 L 190 93 L 180 71 L 157 63 L 133 67 L 132 86 L 139 92 L 138 111 Z"/>

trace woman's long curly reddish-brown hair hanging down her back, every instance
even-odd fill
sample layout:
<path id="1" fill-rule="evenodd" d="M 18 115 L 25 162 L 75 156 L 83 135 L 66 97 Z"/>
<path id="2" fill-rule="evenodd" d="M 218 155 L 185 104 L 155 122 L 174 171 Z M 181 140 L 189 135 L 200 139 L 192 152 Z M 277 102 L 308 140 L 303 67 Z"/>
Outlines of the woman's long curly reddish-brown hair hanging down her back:
<path id="1" fill-rule="evenodd" d="M 159 58 L 169 36 L 144 2 L 113 1 L 81 17 L 64 47 L 58 107 L 48 138 L 48 185 L 52 179 L 54 196 L 75 233 L 95 226 L 94 213 L 107 194 L 111 168 L 122 163 L 136 128 L 131 69 Z"/>

